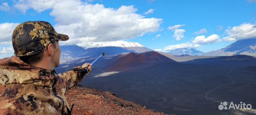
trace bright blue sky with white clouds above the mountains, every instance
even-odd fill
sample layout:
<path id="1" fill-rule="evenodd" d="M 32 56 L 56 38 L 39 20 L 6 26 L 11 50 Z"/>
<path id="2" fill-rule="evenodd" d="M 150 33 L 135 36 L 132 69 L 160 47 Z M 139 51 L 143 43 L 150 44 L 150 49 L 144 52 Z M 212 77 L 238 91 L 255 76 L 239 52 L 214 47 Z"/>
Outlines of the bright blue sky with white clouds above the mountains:
<path id="1" fill-rule="evenodd" d="M 55 1 L 55 2 L 51 3 L 50 1 Z M 74 2 L 70 2 L 70 1 L 74 1 Z M 71 41 L 71 43 L 79 43 L 77 41 L 84 41 L 83 39 L 86 39 L 85 40 L 86 42 L 97 42 L 97 41 L 107 42 L 107 41 L 114 41 L 114 40 L 125 40 L 125 41 L 138 42 L 150 49 L 153 49 L 153 50 L 158 49 L 159 51 L 164 51 L 164 52 L 170 51 L 171 49 L 174 49 L 174 48 L 180 48 L 179 46 L 181 46 L 181 44 L 183 44 L 183 47 L 196 48 L 197 50 L 208 52 L 208 51 L 224 48 L 225 46 L 235 42 L 236 40 L 255 37 L 254 35 L 246 36 L 245 33 L 242 32 L 244 28 L 246 29 L 247 32 L 255 31 L 255 26 L 254 26 L 256 23 L 256 1 L 255 0 L 118 0 L 118 1 L 117 0 L 94 0 L 94 1 L 70 0 L 70 1 L 69 1 L 70 5 L 77 6 L 77 7 L 69 6 L 68 2 L 65 3 L 66 6 L 65 5 L 58 6 L 59 4 L 58 0 L 48 0 L 48 1 L 45 0 L 44 2 L 41 2 L 39 0 L 34 0 L 34 1 L 33 0 L 24 0 L 24 1 L 0 0 L 0 4 L 1 4 L 0 15 L 2 17 L 0 18 L 0 24 L 8 22 L 7 26 L 12 24 L 13 28 L 15 28 L 15 26 L 17 25 L 15 23 L 22 23 L 25 21 L 37 21 L 37 20 L 48 21 L 54 26 L 54 28 L 56 27 L 55 29 L 57 30 L 57 32 L 59 33 L 62 32 L 68 35 L 70 34 L 70 39 L 74 38 L 74 40 Z M 76 4 L 76 2 L 79 2 L 79 4 Z M 34 5 L 30 6 L 30 4 L 36 4 L 39 6 L 34 6 Z M 40 4 L 44 4 L 44 5 L 40 5 Z M 60 4 L 64 4 L 64 3 L 60 3 Z M 117 11 L 117 9 L 120 9 L 121 6 L 131 6 L 131 5 L 133 6 L 124 7 L 122 11 L 119 11 L 119 12 Z M 100 15 L 107 15 L 107 16 L 105 17 L 98 16 L 98 17 L 95 17 L 96 19 L 95 18 L 91 19 L 91 18 L 85 17 L 88 15 L 84 15 L 85 19 L 80 19 L 79 16 L 82 16 L 83 12 L 78 10 L 79 7 L 81 9 L 83 8 L 85 9 L 87 6 L 93 7 L 96 10 L 102 9 L 102 10 L 98 10 L 98 12 L 101 12 Z M 92 15 L 97 13 L 97 11 L 95 12 L 93 11 L 94 10 L 93 8 L 89 9 L 92 11 L 88 11 L 88 12 L 93 12 L 93 13 L 90 13 Z M 112 8 L 112 10 L 108 8 Z M 106 11 L 106 9 L 108 10 Z M 69 11 L 67 12 L 65 10 L 69 10 Z M 133 11 L 133 10 L 136 10 L 136 11 Z M 83 11 L 86 11 L 86 9 Z M 149 12 L 146 13 L 147 11 Z M 112 13 L 109 13 L 109 12 L 112 12 Z M 124 14 L 128 14 L 128 18 L 122 17 L 120 20 L 118 20 L 118 18 L 113 18 L 113 17 L 120 16 L 118 15 L 120 12 Z M 134 14 L 136 15 L 135 16 L 136 18 L 133 19 L 132 17 Z M 74 18 L 71 18 L 73 16 Z M 112 18 L 113 18 L 113 21 L 111 22 Z M 108 21 L 105 21 L 105 19 Z M 147 19 L 148 22 L 142 23 L 144 19 Z M 74 25 L 74 23 L 76 23 L 72 21 L 78 21 L 86 25 L 85 23 L 89 23 L 90 21 L 95 21 L 95 20 L 97 20 L 97 22 L 93 23 L 92 25 L 97 26 L 98 24 L 99 26 L 103 26 L 103 27 L 107 25 L 106 27 L 110 28 L 109 30 L 111 32 L 114 30 L 120 30 L 119 27 L 116 28 L 116 26 L 118 25 L 115 24 L 115 22 L 117 22 L 119 25 L 120 24 L 129 25 L 129 23 L 131 23 L 131 25 L 133 26 L 127 26 L 127 28 L 133 28 L 135 32 L 131 31 L 130 29 L 126 30 L 127 28 L 122 28 L 122 31 L 120 32 L 117 31 L 121 35 L 113 35 L 118 33 L 111 33 L 107 31 L 108 29 L 104 29 L 100 27 L 96 27 L 96 30 L 94 31 L 90 31 L 85 27 L 81 27 L 82 29 L 80 29 L 79 31 L 76 31 L 78 28 L 78 26 L 76 26 L 74 27 L 75 29 L 71 30 L 74 32 L 69 33 L 70 30 L 65 28 L 68 26 L 72 26 Z M 130 21 L 121 22 L 122 20 L 130 20 Z M 113 24 L 108 24 L 110 22 Z M 147 26 L 147 23 L 151 23 L 151 22 L 152 22 L 152 26 L 150 27 L 140 28 L 140 26 L 138 26 L 140 24 L 142 24 L 143 26 Z M 173 26 L 175 25 L 180 25 L 180 27 L 174 28 Z M 0 25 L 0 28 L 1 26 L 2 25 Z M 91 25 L 88 27 L 91 27 Z M 173 29 L 168 29 L 168 27 L 173 27 Z M 201 33 L 195 34 L 195 32 L 198 32 L 201 29 L 202 29 Z M 2 30 L 6 30 L 6 29 L 2 29 Z M 6 31 L 6 33 L 7 32 L 11 32 L 11 31 Z M 82 34 L 83 32 L 87 34 Z M 94 34 L 91 34 L 92 32 L 94 32 Z M 177 40 L 177 37 L 174 37 L 175 32 L 177 33 L 182 32 L 182 34 L 178 34 L 180 39 Z M 108 33 L 106 35 L 106 38 L 104 38 L 103 35 L 96 35 L 96 34 L 105 34 L 105 33 Z M 71 34 L 76 34 L 76 35 L 71 35 Z M 140 34 L 143 34 L 143 35 L 140 35 Z M 113 35 L 113 38 L 111 38 L 111 35 Z M 204 35 L 204 37 L 202 35 Z M 227 37 L 227 39 L 224 40 L 223 39 L 224 37 Z M 195 40 L 196 38 L 198 39 Z M 7 48 L 10 49 L 11 44 L 9 44 L 9 42 L 6 41 L 6 39 L 7 39 L 6 37 L 5 38 L 0 37 L 0 40 L 4 41 L 0 43 L 1 45 L 0 54 L 5 54 L 5 52 L 6 53 L 10 52 L 9 50 L 7 51 Z M 11 40 L 11 37 L 10 37 L 10 40 Z M 5 51 L 3 51 L 4 48 L 5 48 Z M 1 50 L 2 50 L 2 53 L 1 53 Z"/>

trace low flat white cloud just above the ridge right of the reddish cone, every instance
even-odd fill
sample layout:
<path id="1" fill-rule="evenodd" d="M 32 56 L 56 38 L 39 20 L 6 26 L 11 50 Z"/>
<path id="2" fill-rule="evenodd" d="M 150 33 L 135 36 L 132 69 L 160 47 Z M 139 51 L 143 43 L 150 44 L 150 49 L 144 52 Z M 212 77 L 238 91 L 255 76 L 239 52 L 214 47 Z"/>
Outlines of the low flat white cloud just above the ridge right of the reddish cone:
<path id="1" fill-rule="evenodd" d="M 180 49 L 180 48 L 198 48 L 201 45 L 199 44 L 192 44 L 190 42 L 183 43 L 183 44 L 176 44 L 176 45 L 168 45 L 164 49 L 155 49 L 155 51 L 162 51 L 162 52 L 169 52 L 174 49 Z"/>

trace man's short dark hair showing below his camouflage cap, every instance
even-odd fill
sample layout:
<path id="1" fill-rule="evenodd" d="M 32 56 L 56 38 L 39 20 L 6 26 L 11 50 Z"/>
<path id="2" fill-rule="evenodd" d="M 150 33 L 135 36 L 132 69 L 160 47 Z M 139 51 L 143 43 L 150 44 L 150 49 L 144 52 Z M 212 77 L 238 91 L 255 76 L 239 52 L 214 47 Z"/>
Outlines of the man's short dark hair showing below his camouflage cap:
<path id="1" fill-rule="evenodd" d="M 54 41 L 52 44 L 53 44 L 53 47 L 56 48 L 56 41 Z M 43 51 L 34 55 L 20 56 L 20 59 L 27 64 L 35 64 L 41 61 L 42 57 L 43 57 Z"/>

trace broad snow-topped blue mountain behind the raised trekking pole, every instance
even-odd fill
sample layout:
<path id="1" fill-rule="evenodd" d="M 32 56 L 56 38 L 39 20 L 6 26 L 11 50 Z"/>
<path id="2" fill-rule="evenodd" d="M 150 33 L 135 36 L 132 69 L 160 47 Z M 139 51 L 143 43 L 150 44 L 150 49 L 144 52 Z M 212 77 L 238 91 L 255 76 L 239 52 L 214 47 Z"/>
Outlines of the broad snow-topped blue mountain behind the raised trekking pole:
<path id="1" fill-rule="evenodd" d="M 62 49 L 61 60 L 74 59 L 76 57 L 96 57 L 104 52 L 106 55 L 127 54 L 130 52 L 144 53 L 153 51 L 137 42 L 92 42 L 86 44 L 64 44 Z"/>

